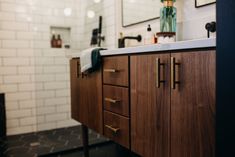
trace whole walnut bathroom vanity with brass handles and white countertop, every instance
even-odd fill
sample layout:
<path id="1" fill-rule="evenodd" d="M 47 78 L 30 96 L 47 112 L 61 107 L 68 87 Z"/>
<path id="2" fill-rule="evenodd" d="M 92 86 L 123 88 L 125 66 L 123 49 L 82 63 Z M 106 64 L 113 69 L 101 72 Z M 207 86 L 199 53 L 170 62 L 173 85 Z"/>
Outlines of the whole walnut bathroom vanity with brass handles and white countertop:
<path id="1" fill-rule="evenodd" d="M 106 50 L 91 74 L 75 55 L 72 118 L 142 157 L 214 157 L 215 47 L 202 39 Z"/>

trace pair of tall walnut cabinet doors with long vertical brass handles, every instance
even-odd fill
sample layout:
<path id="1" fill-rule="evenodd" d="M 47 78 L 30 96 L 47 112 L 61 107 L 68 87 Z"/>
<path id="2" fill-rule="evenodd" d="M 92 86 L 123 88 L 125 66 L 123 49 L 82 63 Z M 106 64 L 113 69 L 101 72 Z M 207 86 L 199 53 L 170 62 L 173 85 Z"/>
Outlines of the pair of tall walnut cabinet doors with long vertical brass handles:
<path id="1" fill-rule="evenodd" d="M 215 157 L 215 52 L 130 59 L 131 146 L 143 157 Z"/>

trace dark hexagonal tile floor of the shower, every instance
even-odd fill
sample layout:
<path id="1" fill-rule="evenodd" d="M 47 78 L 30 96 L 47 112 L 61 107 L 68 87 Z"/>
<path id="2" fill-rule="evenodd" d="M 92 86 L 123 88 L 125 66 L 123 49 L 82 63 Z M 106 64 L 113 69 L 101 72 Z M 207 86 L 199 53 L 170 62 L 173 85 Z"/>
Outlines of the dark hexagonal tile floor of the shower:
<path id="1" fill-rule="evenodd" d="M 108 140 L 89 131 L 89 144 Z M 82 147 L 81 127 L 70 127 L 0 139 L 0 157 L 37 157 Z"/>

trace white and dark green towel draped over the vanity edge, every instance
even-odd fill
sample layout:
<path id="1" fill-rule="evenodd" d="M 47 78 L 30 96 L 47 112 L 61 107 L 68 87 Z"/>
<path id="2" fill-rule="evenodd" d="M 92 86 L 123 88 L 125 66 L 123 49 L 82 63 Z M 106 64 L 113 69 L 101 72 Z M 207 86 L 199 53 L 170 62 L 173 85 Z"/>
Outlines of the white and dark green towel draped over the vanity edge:
<path id="1" fill-rule="evenodd" d="M 90 48 L 82 51 L 80 56 L 81 72 L 94 72 L 101 66 L 100 51 L 104 48 Z"/>

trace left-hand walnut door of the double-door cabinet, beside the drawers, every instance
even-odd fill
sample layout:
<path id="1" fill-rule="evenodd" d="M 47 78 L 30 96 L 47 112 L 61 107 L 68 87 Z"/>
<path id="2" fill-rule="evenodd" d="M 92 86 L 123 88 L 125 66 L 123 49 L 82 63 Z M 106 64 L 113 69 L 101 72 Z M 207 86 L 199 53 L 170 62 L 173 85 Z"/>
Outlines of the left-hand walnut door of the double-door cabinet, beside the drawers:
<path id="1" fill-rule="evenodd" d="M 164 63 L 157 88 L 156 59 Z M 131 56 L 131 146 L 143 157 L 169 157 L 170 54 Z"/>

